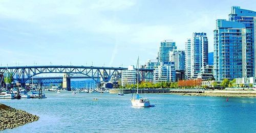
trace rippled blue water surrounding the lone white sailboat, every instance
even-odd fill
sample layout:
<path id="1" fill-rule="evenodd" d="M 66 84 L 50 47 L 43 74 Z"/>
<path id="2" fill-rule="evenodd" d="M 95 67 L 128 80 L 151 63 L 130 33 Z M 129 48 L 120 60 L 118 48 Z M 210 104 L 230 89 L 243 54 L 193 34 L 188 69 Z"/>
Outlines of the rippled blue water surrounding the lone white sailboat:
<path id="1" fill-rule="evenodd" d="M 156 107 L 132 108 L 130 94 L 46 95 L 46 99 L 0 99 L 40 117 L 3 132 L 256 132 L 256 98 L 226 102 L 225 97 L 147 94 Z"/>

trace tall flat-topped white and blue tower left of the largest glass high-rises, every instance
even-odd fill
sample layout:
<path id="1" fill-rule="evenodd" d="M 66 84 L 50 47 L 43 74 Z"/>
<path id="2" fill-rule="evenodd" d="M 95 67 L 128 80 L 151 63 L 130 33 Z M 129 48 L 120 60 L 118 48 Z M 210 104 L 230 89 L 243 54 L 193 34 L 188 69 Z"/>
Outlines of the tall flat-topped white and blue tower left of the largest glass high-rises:
<path id="1" fill-rule="evenodd" d="M 208 64 L 208 38 L 206 33 L 193 33 L 185 43 L 185 76 L 195 79 L 200 69 Z"/>

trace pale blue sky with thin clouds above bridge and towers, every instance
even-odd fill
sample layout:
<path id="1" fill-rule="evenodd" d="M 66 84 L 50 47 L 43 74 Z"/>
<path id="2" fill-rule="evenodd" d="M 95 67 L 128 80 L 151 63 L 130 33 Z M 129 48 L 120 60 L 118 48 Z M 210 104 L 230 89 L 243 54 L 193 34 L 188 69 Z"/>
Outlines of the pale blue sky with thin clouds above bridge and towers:
<path id="1" fill-rule="evenodd" d="M 255 1 L 5 1 L 0 0 L 0 65 L 127 67 L 155 59 L 160 42 L 184 50 L 205 32 L 213 51 L 216 19 Z"/>

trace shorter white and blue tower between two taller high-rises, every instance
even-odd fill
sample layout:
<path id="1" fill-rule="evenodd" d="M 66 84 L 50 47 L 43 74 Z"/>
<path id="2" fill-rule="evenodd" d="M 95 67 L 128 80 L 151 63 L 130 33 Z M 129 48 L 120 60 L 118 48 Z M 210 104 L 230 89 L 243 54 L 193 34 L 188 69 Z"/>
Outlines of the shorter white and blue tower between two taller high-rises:
<path id="1" fill-rule="evenodd" d="M 170 62 L 175 63 L 176 70 L 185 70 L 185 51 L 184 50 L 172 50 L 169 51 Z"/>

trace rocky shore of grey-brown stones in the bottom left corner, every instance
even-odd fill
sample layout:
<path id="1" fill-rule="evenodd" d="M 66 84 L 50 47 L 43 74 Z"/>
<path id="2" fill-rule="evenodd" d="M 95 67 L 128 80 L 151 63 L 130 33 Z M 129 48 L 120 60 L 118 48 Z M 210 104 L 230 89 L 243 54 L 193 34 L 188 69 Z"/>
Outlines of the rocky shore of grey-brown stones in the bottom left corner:
<path id="1" fill-rule="evenodd" d="M 36 115 L 0 103 L 0 130 L 15 128 L 38 119 Z"/>

